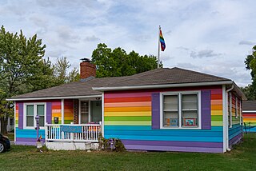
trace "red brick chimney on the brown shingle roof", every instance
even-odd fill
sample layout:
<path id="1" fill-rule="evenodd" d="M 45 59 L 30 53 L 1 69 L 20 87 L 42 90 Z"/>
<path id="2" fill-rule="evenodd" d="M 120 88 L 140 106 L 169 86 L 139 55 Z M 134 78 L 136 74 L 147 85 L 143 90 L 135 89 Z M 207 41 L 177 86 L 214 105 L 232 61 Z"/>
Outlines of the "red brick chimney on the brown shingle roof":
<path id="1" fill-rule="evenodd" d="M 88 58 L 82 58 L 80 63 L 80 80 L 86 81 L 86 78 L 96 77 L 96 66 Z"/>

